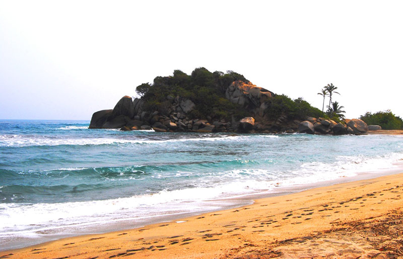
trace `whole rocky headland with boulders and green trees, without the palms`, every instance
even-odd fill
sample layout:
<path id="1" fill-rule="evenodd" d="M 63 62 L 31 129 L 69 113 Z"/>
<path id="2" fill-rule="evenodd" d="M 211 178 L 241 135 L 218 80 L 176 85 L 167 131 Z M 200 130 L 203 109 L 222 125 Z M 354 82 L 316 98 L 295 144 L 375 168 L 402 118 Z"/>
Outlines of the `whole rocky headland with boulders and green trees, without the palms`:
<path id="1" fill-rule="evenodd" d="M 90 128 L 157 132 L 301 132 L 366 134 L 359 119 L 329 118 L 302 98 L 292 100 L 258 87 L 233 71 L 175 70 L 136 88 L 141 98 L 123 96 L 113 110 L 95 112 Z"/>

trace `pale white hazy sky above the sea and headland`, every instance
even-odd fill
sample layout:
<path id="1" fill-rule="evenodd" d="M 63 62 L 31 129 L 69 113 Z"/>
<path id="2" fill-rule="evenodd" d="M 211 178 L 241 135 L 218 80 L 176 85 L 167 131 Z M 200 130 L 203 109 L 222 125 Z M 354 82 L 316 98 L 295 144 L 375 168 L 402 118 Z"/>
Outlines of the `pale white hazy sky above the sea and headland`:
<path id="1" fill-rule="evenodd" d="M 403 118 L 401 1 L 0 1 L 0 119 L 90 120 L 197 67 Z"/>

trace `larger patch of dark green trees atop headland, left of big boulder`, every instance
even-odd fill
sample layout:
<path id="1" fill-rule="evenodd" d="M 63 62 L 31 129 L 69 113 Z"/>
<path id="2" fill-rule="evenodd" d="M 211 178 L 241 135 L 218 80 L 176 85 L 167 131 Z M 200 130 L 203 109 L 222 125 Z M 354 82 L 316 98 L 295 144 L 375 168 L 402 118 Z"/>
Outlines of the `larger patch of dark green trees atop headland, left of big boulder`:
<path id="1" fill-rule="evenodd" d="M 163 111 L 168 105 L 167 96 L 179 95 L 195 103 L 196 107 L 190 113 L 193 118 L 248 116 L 246 111 L 239 111 L 238 105 L 225 98 L 226 88 L 235 80 L 248 81 L 233 71 L 212 73 L 206 68 L 196 68 L 191 75 L 187 75 L 175 70 L 173 76 L 157 76 L 152 84 L 141 84 L 136 91 L 146 98 L 148 110 Z"/>

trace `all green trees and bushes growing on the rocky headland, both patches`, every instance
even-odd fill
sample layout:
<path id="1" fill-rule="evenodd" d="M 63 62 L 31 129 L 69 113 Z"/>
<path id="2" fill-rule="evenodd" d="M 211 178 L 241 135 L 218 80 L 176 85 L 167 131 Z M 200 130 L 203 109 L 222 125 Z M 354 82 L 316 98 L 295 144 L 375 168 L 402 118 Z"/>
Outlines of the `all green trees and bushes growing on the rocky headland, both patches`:
<path id="1" fill-rule="evenodd" d="M 179 95 L 192 100 L 196 107 L 189 117 L 191 118 L 230 118 L 236 119 L 253 116 L 250 111 L 232 103 L 225 97 L 227 87 L 236 80 L 248 82 L 241 74 L 234 71 L 223 73 L 210 72 L 206 68 L 196 68 L 191 75 L 175 70 L 172 76 L 154 79 L 152 84 L 144 83 L 136 88 L 138 94 L 146 100 L 147 110 L 164 111 L 170 102 L 167 96 Z M 319 117 L 321 111 L 313 108 L 302 98 L 295 100 L 286 95 L 275 95 L 270 107 L 266 110 L 270 118 L 277 119 L 286 115 L 289 119 L 304 119 L 307 116 Z"/>

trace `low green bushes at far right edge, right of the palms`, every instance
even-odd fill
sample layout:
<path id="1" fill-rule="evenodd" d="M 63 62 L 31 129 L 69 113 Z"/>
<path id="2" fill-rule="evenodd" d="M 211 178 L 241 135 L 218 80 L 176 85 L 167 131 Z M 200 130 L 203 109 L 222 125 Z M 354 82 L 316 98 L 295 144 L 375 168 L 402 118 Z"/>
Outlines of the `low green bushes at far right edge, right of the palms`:
<path id="1" fill-rule="evenodd" d="M 390 110 L 384 112 L 370 113 L 360 117 L 368 125 L 379 125 L 385 130 L 403 129 L 403 121 L 399 116 L 395 116 Z"/>

